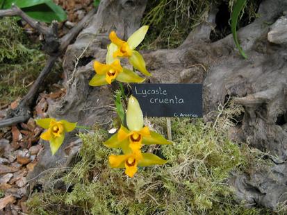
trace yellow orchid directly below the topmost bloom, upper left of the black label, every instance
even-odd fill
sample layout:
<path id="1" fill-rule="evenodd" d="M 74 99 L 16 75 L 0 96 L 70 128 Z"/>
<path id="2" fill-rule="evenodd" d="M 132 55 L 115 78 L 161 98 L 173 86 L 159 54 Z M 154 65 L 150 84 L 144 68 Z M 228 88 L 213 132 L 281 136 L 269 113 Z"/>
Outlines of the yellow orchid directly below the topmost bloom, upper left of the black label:
<path id="1" fill-rule="evenodd" d="M 106 65 L 95 60 L 94 69 L 96 75 L 90 80 L 89 85 L 101 86 L 112 83 L 118 80 L 124 83 L 142 83 L 145 78 L 141 78 L 133 71 L 123 68 L 120 65 L 120 60 L 113 58 L 113 52 L 117 50 L 115 44 L 108 45 L 108 52 L 106 54 Z"/>

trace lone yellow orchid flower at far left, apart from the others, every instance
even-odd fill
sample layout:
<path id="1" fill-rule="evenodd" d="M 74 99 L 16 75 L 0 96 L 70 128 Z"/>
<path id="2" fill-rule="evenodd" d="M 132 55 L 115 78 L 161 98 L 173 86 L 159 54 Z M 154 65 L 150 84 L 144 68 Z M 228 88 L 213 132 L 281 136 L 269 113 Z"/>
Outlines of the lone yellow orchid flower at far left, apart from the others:
<path id="1" fill-rule="evenodd" d="M 65 132 L 70 132 L 76 128 L 76 123 L 70 123 L 65 120 L 56 121 L 54 118 L 37 119 L 36 123 L 47 131 L 40 137 L 50 142 L 52 155 L 56 153 L 65 139 Z"/>

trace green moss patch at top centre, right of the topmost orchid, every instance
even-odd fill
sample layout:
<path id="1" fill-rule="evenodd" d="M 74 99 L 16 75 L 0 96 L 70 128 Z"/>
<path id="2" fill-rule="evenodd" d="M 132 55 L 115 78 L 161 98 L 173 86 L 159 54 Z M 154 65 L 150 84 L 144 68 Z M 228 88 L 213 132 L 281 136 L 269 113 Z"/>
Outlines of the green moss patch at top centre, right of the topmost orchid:
<path id="1" fill-rule="evenodd" d="M 142 24 L 150 26 L 142 49 L 172 49 L 186 39 L 188 33 L 204 21 L 210 1 L 149 1 Z"/>

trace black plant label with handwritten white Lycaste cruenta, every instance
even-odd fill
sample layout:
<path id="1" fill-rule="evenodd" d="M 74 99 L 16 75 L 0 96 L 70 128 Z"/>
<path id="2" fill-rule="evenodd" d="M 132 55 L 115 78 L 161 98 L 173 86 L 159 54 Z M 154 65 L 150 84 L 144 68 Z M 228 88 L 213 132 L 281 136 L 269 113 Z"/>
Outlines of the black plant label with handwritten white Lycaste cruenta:
<path id="1" fill-rule="evenodd" d="M 147 117 L 202 117 L 202 84 L 132 84 Z"/>

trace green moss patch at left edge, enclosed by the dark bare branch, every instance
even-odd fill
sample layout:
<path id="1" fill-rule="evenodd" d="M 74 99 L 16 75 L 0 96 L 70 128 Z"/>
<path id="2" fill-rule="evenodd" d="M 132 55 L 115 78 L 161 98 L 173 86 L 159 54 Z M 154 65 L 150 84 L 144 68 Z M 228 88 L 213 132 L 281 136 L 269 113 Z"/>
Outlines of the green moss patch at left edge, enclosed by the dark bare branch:
<path id="1" fill-rule="evenodd" d="M 28 40 L 16 20 L 0 19 L 0 106 L 26 93 L 46 58 L 38 50 L 39 44 Z"/>

